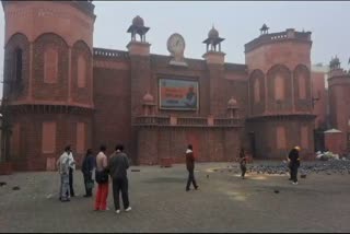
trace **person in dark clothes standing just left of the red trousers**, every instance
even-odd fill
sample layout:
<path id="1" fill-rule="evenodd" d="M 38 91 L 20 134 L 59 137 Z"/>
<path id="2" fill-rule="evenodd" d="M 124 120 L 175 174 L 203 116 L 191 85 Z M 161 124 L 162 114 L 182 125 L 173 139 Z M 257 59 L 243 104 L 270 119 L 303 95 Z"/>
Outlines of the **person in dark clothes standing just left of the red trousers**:
<path id="1" fill-rule="evenodd" d="M 95 159 L 92 154 L 92 149 L 86 151 L 86 155 L 83 160 L 81 172 L 84 176 L 84 185 L 85 185 L 85 198 L 92 197 L 92 189 L 94 185 L 94 180 L 92 179 L 92 172 L 95 168 Z"/>

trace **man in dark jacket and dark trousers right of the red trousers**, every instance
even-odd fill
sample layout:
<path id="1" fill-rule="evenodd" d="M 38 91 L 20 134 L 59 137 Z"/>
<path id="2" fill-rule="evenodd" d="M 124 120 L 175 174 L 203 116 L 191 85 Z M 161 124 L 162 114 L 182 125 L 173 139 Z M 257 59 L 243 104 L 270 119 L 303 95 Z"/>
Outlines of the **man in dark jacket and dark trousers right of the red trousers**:
<path id="1" fill-rule="evenodd" d="M 118 144 L 116 151 L 109 156 L 108 171 L 113 179 L 113 198 L 116 213 L 120 213 L 119 192 L 121 190 L 121 198 L 125 211 L 130 211 L 128 195 L 128 177 L 127 169 L 129 168 L 129 160 L 124 151 L 124 145 Z"/>

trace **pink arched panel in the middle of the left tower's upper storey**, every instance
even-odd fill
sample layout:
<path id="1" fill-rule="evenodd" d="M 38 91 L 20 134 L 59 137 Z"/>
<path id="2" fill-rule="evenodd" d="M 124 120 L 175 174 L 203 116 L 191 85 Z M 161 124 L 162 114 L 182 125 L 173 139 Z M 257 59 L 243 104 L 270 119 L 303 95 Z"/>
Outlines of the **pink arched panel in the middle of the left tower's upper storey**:
<path id="1" fill-rule="evenodd" d="M 58 52 L 54 48 L 48 48 L 44 54 L 44 82 L 57 82 Z"/>

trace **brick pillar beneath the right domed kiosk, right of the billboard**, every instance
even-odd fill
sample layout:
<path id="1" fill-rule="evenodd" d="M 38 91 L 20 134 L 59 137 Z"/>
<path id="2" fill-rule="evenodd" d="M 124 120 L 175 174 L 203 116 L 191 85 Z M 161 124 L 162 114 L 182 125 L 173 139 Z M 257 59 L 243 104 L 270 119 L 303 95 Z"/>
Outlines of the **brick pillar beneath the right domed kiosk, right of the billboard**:
<path id="1" fill-rule="evenodd" d="M 226 110 L 226 101 L 222 92 L 224 79 L 224 52 L 208 51 L 203 55 L 210 83 L 210 114 L 223 115 Z"/>

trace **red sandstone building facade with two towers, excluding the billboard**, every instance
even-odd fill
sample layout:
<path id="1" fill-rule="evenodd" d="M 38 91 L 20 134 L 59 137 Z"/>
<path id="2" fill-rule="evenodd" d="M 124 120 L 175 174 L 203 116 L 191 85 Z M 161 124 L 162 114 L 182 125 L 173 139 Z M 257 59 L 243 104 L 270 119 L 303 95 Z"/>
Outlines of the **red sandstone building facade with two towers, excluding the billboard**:
<path id="1" fill-rule="evenodd" d="M 89 1 L 2 5 L 3 102 L 15 169 L 52 168 L 66 144 L 81 159 L 88 148 L 105 143 L 112 152 L 124 142 L 135 164 L 183 162 L 188 143 L 200 162 L 231 161 L 241 145 L 260 159 L 284 159 L 294 145 L 302 156 L 314 151 L 310 32 L 264 27 L 245 45 L 246 65 L 207 49 L 203 60 L 186 58 L 187 67 L 178 67 L 150 52 L 145 33 L 127 51 L 93 48 Z M 142 19 L 132 26 L 145 28 Z M 212 30 L 206 42 L 222 40 Z M 159 80 L 166 77 L 198 81 L 197 110 L 159 108 Z M 334 121 L 346 127 L 342 117 Z"/>

